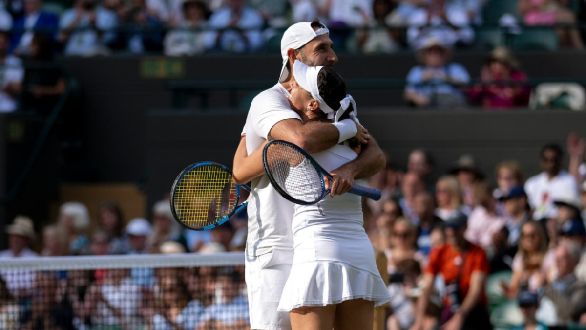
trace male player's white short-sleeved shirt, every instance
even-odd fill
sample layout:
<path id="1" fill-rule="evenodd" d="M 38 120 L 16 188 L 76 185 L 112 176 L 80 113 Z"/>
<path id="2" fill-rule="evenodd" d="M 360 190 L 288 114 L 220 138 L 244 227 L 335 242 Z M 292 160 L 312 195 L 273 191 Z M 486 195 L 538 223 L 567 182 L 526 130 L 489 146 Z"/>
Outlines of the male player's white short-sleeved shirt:
<path id="1" fill-rule="evenodd" d="M 280 83 L 265 90 L 250 105 L 244 131 L 250 155 L 268 138 L 272 126 L 281 120 L 301 117 L 291 110 L 289 92 Z M 271 252 L 273 248 L 293 249 L 291 223 L 293 203 L 285 200 L 263 174 L 251 183 L 248 200 L 248 237 L 246 253 L 250 256 Z"/>

